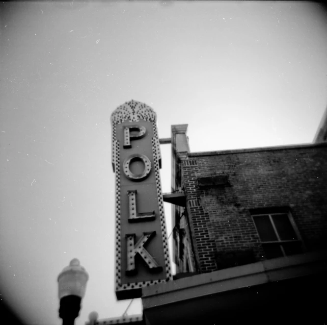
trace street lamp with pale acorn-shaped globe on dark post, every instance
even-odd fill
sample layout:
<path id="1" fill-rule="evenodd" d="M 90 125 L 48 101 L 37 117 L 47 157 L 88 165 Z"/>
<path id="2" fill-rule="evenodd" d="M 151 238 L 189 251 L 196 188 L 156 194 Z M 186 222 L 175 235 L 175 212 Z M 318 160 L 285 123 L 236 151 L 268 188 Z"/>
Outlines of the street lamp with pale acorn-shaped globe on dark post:
<path id="1" fill-rule="evenodd" d="M 81 299 L 85 295 L 89 274 L 78 259 L 72 259 L 58 276 L 60 299 L 59 317 L 63 325 L 74 325 L 80 311 Z"/>

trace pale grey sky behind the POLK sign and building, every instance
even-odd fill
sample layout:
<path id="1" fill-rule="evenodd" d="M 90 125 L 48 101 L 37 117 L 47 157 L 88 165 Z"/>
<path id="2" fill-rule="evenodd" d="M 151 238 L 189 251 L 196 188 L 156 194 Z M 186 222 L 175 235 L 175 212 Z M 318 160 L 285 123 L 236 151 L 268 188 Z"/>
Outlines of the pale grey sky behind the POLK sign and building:
<path id="1" fill-rule="evenodd" d="M 90 274 L 76 325 L 114 293 L 110 116 L 134 99 L 192 152 L 309 143 L 327 105 L 327 19 L 306 2 L 1 3 L 0 293 L 59 325 L 59 272 Z M 163 192 L 170 145 L 161 145 Z M 168 233 L 170 206 L 166 205 Z M 128 314 L 141 313 L 141 301 Z"/>

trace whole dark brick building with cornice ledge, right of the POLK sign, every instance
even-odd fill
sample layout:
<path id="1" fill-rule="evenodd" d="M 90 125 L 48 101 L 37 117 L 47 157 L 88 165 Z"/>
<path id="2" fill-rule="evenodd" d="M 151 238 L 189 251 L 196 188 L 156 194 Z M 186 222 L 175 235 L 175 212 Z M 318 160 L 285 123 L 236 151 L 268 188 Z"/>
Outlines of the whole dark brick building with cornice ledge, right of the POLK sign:
<path id="1" fill-rule="evenodd" d="M 177 274 L 143 290 L 145 323 L 325 320 L 325 126 L 312 144 L 199 153 L 172 126 Z"/>

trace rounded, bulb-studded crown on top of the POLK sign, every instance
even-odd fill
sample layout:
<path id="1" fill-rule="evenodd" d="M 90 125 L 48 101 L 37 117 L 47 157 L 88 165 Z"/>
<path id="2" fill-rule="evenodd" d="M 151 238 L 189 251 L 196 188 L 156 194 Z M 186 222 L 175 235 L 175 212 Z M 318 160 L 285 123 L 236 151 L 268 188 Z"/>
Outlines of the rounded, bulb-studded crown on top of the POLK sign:
<path id="1" fill-rule="evenodd" d="M 133 101 L 133 99 L 117 107 L 111 114 L 113 124 L 120 124 L 126 120 L 138 122 L 140 119 L 156 122 L 157 115 L 150 106 Z"/>

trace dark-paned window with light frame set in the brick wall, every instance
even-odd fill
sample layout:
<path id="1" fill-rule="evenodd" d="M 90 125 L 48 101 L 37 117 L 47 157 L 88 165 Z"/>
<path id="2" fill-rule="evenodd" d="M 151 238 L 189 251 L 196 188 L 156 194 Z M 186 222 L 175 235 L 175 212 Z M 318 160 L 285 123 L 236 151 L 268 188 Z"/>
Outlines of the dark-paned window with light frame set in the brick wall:
<path id="1" fill-rule="evenodd" d="M 303 253 L 290 213 L 252 214 L 267 259 Z"/>

